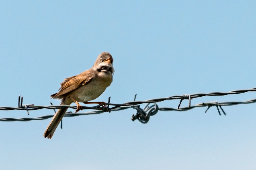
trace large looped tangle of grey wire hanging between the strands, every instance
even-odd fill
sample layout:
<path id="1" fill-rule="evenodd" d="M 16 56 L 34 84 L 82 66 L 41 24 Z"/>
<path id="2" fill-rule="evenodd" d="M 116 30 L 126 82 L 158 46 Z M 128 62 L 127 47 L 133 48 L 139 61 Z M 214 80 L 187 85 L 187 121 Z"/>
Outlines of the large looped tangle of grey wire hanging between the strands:
<path id="1" fill-rule="evenodd" d="M 132 107 L 133 109 L 136 109 L 137 113 L 135 115 L 132 115 L 131 120 L 135 121 L 136 119 L 138 119 L 138 121 L 140 121 L 143 124 L 147 123 L 149 121 L 150 116 L 155 115 L 159 110 L 159 107 L 157 106 L 156 103 L 148 107 L 149 104 L 150 103 L 148 103 L 144 109 L 141 109 L 140 106 Z"/>

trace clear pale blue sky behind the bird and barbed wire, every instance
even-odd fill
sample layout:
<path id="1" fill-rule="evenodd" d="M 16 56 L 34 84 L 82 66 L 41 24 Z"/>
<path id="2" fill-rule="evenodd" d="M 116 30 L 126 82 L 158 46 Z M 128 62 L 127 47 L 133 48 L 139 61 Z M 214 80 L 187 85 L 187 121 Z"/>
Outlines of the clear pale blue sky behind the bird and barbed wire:
<path id="1" fill-rule="evenodd" d="M 0 106 L 16 107 L 19 95 L 59 104 L 50 95 L 103 51 L 115 74 L 95 101 L 256 87 L 255 18 L 255 1 L 0 1 Z M 133 109 L 63 118 L 51 140 L 43 137 L 51 119 L 0 122 L 0 169 L 256 169 L 255 104 L 223 107 L 227 116 L 205 109 L 159 111 L 147 124 L 131 121 Z M 0 111 L 1 118 L 49 114 Z"/>

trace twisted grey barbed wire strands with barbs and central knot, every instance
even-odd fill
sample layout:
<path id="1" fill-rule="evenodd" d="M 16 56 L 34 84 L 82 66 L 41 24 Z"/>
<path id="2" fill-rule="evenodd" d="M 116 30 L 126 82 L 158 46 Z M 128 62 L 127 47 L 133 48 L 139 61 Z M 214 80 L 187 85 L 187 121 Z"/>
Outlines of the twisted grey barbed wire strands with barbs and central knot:
<path id="1" fill-rule="evenodd" d="M 132 115 L 131 120 L 138 120 L 141 123 L 147 123 L 150 119 L 150 116 L 155 115 L 159 110 L 160 111 L 187 111 L 190 109 L 194 109 L 197 107 L 207 107 L 206 111 L 212 107 L 215 106 L 217 108 L 217 111 L 219 113 L 219 115 L 221 115 L 220 110 L 222 111 L 222 113 L 224 115 L 226 115 L 226 113 L 224 112 L 224 110 L 222 109 L 222 106 L 234 106 L 237 104 L 250 104 L 250 103 L 255 103 L 256 99 L 251 99 L 248 101 L 242 101 L 242 102 L 238 102 L 238 101 L 233 101 L 233 102 L 217 102 L 217 101 L 212 101 L 212 102 L 202 102 L 199 104 L 196 104 L 194 106 L 190 106 L 190 100 L 192 100 L 193 98 L 198 98 L 198 97 L 204 97 L 204 96 L 225 96 L 225 95 L 233 95 L 233 94 L 241 94 L 241 93 L 246 93 L 249 91 L 256 91 L 256 88 L 251 88 L 251 89 L 245 89 L 245 90 L 233 90 L 233 91 L 229 91 L 227 93 L 222 93 L 222 92 L 212 92 L 212 93 L 196 93 L 196 94 L 184 94 L 182 96 L 170 96 L 170 97 L 166 97 L 166 98 L 156 98 L 156 99 L 150 99 L 150 100 L 145 100 L 145 101 L 135 101 L 136 99 L 136 95 L 134 96 L 134 101 L 131 102 L 126 102 L 123 104 L 113 104 L 110 103 L 110 97 L 108 100 L 107 107 L 101 107 L 101 105 L 98 106 L 94 106 L 94 107 L 87 107 L 87 106 L 82 106 L 83 109 L 92 109 L 94 111 L 90 111 L 90 112 L 86 112 L 86 113 L 72 113 L 72 112 L 66 112 L 64 117 L 74 117 L 74 116 L 81 116 L 81 115 L 91 115 L 91 114 L 101 114 L 104 112 L 111 112 L 111 111 L 120 111 L 120 110 L 125 110 L 125 109 L 129 109 L 129 108 L 133 108 L 135 109 L 137 112 L 136 114 Z M 183 107 L 180 108 L 180 104 L 184 99 L 188 99 L 189 100 L 189 105 L 188 107 Z M 170 108 L 170 107 L 162 107 L 159 108 L 158 105 L 156 103 L 165 101 L 165 100 L 180 100 L 178 108 Z M 51 106 L 35 106 L 34 104 L 22 104 L 23 103 L 23 97 L 20 100 L 20 96 L 18 97 L 18 107 L 0 107 L 0 110 L 26 110 L 27 114 L 29 115 L 29 111 L 32 110 L 39 110 L 39 109 L 52 109 L 55 111 L 55 109 L 61 109 L 61 108 L 71 108 L 71 109 L 77 109 L 77 106 L 69 106 L 69 105 L 52 105 Z M 140 104 L 143 103 L 147 103 L 146 106 L 144 107 L 144 109 L 142 109 L 140 107 Z M 153 103 L 153 105 L 149 106 L 151 103 Z M 109 107 L 109 106 L 113 106 L 113 107 Z M 220 110 L 219 110 L 220 108 Z M 56 111 L 55 111 L 56 113 Z M 29 118 L 29 117 L 24 117 L 24 118 L 20 118 L 20 119 L 15 119 L 15 118 L 2 118 L 0 119 L 0 121 L 4 121 L 4 122 L 11 122 L 11 121 L 31 121 L 31 120 L 45 120 L 45 119 L 49 119 L 51 117 L 53 117 L 54 115 L 46 115 L 46 116 L 40 116 L 40 117 L 35 117 L 35 118 Z"/>

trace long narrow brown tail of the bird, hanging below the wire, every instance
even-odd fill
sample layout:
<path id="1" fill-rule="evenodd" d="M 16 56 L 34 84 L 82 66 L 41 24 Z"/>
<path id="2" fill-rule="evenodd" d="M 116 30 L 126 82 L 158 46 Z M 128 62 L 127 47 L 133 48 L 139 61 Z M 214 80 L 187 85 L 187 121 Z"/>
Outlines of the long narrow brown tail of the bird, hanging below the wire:
<path id="1" fill-rule="evenodd" d="M 61 104 L 66 104 L 66 105 L 70 105 L 72 102 L 65 100 L 65 98 L 62 99 Z M 64 114 L 66 113 L 66 111 L 68 110 L 68 108 L 65 109 L 58 109 L 57 113 L 53 116 L 50 124 L 48 125 L 48 127 L 45 130 L 44 133 L 44 137 L 51 139 L 56 128 L 58 127 L 62 117 L 64 116 Z"/>

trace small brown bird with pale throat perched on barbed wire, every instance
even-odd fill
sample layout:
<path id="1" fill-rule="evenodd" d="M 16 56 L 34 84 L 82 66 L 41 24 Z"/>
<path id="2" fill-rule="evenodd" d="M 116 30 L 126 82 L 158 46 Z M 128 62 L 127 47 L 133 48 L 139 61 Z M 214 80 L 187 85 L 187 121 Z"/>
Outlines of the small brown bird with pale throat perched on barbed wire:
<path id="1" fill-rule="evenodd" d="M 105 102 L 88 102 L 98 98 L 105 89 L 110 86 L 114 74 L 113 58 L 110 53 L 101 53 L 92 68 L 76 76 L 68 77 L 60 84 L 58 93 L 51 95 L 51 98 L 62 99 L 60 104 L 70 105 L 76 103 L 76 112 L 82 110 L 78 102 L 85 104 L 101 104 L 106 107 Z M 50 124 L 45 130 L 44 137 L 51 139 L 57 126 L 68 108 L 58 109 Z"/>

